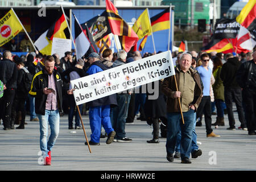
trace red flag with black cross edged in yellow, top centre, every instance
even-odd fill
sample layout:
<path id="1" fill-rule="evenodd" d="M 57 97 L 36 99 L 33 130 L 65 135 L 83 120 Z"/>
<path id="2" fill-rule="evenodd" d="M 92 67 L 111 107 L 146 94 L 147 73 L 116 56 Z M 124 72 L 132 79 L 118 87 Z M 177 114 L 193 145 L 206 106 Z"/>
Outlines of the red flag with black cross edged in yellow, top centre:
<path id="1" fill-rule="evenodd" d="M 129 52 L 139 40 L 133 29 L 119 16 L 117 9 L 110 0 L 106 0 L 106 11 L 111 31 L 119 36 L 122 49 Z"/>

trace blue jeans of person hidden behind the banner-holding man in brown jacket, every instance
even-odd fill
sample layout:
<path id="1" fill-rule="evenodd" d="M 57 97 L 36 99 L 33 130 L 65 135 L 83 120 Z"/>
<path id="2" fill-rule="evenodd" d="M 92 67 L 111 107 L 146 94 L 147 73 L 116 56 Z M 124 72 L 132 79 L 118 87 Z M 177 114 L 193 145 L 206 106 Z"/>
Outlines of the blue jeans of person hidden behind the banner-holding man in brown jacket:
<path id="1" fill-rule="evenodd" d="M 196 113 L 194 113 L 194 125 L 193 125 L 193 133 L 192 133 L 192 144 L 191 144 L 191 153 L 193 151 L 198 150 L 198 146 L 196 144 L 197 134 L 196 134 Z M 181 142 L 181 131 L 177 134 L 176 148 L 175 152 L 180 152 L 180 142 Z"/>

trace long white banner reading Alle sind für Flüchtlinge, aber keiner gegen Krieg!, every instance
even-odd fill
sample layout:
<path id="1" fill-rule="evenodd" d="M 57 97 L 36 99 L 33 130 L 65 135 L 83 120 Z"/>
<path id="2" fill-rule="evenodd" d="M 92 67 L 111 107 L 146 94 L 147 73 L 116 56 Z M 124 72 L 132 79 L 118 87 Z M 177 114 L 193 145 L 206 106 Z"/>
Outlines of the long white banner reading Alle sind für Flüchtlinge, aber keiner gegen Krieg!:
<path id="1" fill-rule="evenodd" d="M 76 105 L 175 75 L 171 51 L 71 81 Z"/>

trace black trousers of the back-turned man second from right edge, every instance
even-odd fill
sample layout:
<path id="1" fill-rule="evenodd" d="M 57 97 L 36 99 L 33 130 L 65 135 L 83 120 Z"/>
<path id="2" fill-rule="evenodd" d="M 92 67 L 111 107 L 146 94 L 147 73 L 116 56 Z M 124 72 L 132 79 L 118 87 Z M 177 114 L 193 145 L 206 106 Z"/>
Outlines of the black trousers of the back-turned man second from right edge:
<path id="1" fill-rule="evenodd" d="M 229 127 L 236 128 L 233 113 L 233 100 L 236 103 L 237 113 L 241 127 L 246 127 L 245 113 L 243 113 L 242 106 L 242 90 L 241 88 L 224 88 L 224 97 L 226 103 L 226 110 L 228 112 Z"/>

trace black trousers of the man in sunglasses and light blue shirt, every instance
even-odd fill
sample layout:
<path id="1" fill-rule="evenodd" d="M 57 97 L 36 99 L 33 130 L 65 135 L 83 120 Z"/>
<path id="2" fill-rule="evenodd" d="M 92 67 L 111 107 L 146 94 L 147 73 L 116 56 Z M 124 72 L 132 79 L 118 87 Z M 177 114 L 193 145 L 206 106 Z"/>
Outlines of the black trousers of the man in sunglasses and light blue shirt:
<path id="1" fill-rule="evenodd" d="M 199 107 L 196 111 L 196 119 L 204 114 L 205 127 L 207 134 L 212 133 L 212 102 L 210 102 L 210 96 L 203 96 Z"/>

